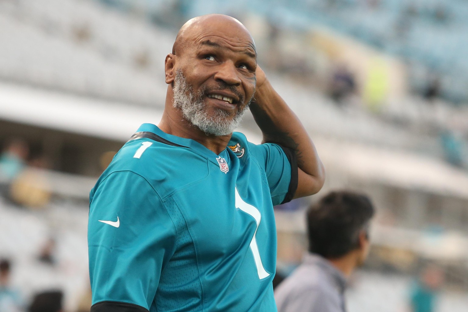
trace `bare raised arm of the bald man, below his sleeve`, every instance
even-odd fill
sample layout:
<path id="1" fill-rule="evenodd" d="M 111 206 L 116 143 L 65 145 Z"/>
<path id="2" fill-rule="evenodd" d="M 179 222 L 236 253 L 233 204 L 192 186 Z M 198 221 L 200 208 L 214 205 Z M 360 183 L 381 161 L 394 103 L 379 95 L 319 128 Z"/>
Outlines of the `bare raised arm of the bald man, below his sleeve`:
<path id="1" fill-rule="evenodd" d="M 256 89 L 250 111 L 262 130 L 263 142 L 278 143 L 296 153 L 300 171 L 295 197 L 317 193 L 323 186 L 325 171 L 314 143 L 268 80 Z"/>

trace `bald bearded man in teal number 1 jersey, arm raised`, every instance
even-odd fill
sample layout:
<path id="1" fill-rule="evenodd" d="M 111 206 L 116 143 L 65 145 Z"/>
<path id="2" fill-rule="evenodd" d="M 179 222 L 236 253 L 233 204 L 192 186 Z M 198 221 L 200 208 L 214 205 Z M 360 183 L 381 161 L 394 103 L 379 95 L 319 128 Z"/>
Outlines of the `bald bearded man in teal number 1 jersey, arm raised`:
<path id="1" fill-rule="evenodd" d="M 276 311 L 273 205 L 318 192 L 324 170 L 256 54 L 226 15 L 177 34 L 161 121 L 90 193 L 92 312 Z M 233 133 L 249 105 L 260 145 Z"/>

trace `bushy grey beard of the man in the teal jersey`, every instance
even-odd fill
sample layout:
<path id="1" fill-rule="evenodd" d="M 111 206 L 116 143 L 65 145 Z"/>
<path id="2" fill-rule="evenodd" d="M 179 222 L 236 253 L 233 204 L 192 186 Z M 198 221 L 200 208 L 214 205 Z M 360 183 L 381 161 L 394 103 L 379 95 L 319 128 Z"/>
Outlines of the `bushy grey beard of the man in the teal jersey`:
<path id="1" fill-rule="evenodd" d="M 237 111 L 232 120 L 227 120 L 229 113 L 222 109 L 215 109 L 214 115 L 209 115 L 206 104 L 203 101 L 205 89 L 194 93 L 192 86 L 185 79 L 181 69 L 176 71 L 173 92 L 172 104 L 176 109 L 182 111 L 183 117 L 192 125 L 205 132 L 205 134 L 216 136 L 231 134 L 241 122 L 250 104 L 249 101 L 245 107 Z M 243 104 L 244 102 L 238 105 L 242 107 Z"/>

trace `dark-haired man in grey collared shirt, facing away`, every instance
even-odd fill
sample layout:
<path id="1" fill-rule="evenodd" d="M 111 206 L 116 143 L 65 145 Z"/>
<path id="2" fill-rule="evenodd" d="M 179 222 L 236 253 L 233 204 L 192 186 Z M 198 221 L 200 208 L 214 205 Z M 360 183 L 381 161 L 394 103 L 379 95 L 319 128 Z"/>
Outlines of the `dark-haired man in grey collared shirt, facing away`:
<path id="1" fill-rule="evenodd" d="M 369 251 L 368 197 L 331 192 L 307 211 L 309 253 L 275 290 L 278 312 L 344 312 L 344 289 Z"/>

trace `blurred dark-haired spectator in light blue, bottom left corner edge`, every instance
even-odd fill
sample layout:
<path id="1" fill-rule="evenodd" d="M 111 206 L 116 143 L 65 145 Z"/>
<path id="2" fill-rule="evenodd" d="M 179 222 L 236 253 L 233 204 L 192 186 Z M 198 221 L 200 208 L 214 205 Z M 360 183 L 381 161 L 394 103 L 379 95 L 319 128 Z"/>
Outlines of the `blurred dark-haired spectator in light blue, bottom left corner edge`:
<path id="1" fill-rule="evenodd" d="M 22 312 L 19 291 L 10 285 L 10 261 L 0 259 L 0 312 Z"/>

